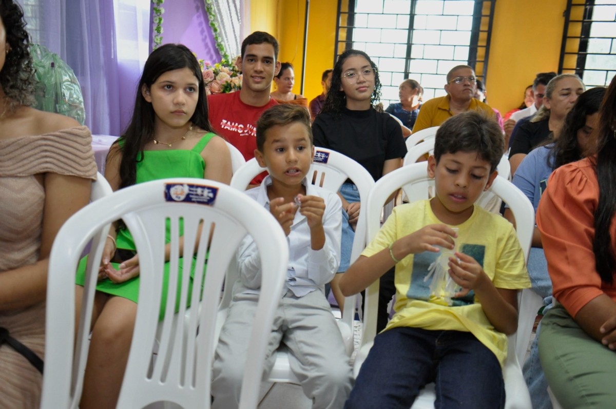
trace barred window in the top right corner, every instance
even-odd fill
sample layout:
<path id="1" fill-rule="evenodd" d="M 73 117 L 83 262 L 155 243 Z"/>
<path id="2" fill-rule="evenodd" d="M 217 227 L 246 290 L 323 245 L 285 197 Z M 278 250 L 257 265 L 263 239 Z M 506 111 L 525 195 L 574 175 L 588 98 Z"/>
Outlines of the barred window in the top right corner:
<path id="1" fill-rule="evenodd" d="M 561 73 L 586 87 L 607 86 L 616 75 L 616 0 L 569 0 L 562 33 Z"/>

